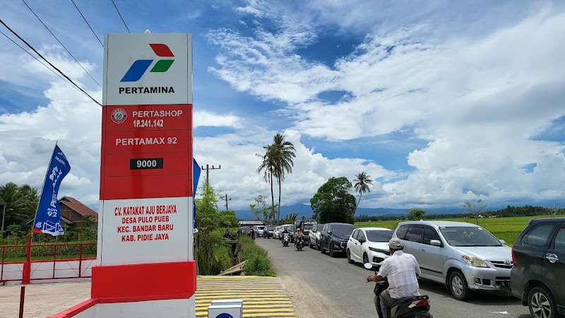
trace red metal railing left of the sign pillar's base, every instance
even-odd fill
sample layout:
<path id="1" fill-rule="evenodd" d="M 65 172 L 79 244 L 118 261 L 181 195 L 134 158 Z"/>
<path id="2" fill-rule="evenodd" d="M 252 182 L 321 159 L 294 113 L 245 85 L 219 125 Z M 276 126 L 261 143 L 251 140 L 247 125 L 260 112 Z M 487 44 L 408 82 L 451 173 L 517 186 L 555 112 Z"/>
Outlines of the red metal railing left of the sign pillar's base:
<path id="1" fill-rule="evenodd" d="M 90 260 L 91 263 L 92 263 L 96 259 L 96 257 L 83 257 L 83 251 L 84 251 L 85 245 L 96 245 L 96 244 L 97 244 L 96 242 L 90 242 L 90 243 L 63 243 L 63 244 L 32 245 L 31 244 L 31 235 L 29 235 L 27 245 L 4 245 L 4 246 L 0 246 L 0 249 L 1 249 L 0 283 L 5 283 L 7 281 L 21 281 L 23 284 L 28 284 L 28 283 L 30 283 L 30 281 L 39 281 L 39 280 L 45 280 L 45 279 L 89 278 L 91 276 L 83 275 L 83 261 Z M 65 257 L 61 257 L 61 255 L 63 255 L 64 253 L 59 252 L 60 259 L 57 259 L 57 247 L 61 248 L 61 247 L 68 247 L 68 246 L 78 246 L 78 258 L 68 259 L 68 258 L 65 258 Z M 38 247 L 39 248 L 41 248 L 41 247 L 52 247 L 53 252 L 48 252 L 47 254 L 49 254 L 49 256 L 52 254 L 53 258 L 52 259 L 49 258 L 49 259 L 41 259 L 41 260 L 32 261 L 31 260 L 32 259 L 32 249 L 38 248 Z M 19 249 L 25 248 L 25 261 L 6 261 L 6 249 L 18 249 L 18 248 Z M 13 254 L 18 254 L 18 253 L 11 253 L 11 255 L 13 255 Z M 43 256 L 45 256 L 45 255 L 43 255 Z M 66 261 L 69 264 L 69 268 L 57 269 L 57 263 L 64 262 L 64 261 Z M 76 271 L 76 269 L 73 268 L 73 266 L 71 266 L 72 261 L 78 261 L 78 272 Z M 35 272 L 37 270 L 37 269 L 35 269 L 34 271 L 32 271 L 32 264 L 34 264 L 34 263 L 49 263 L 49 262 L 53 263 L 52 274 L 50 275 L 50 277 L 32 278 L 33 272 Z M 19 264 L 23 265 L 22 268 L 20 268 Z M 21 278 L 6 278 L 4 269 L 5 269 L 5 266 L 8 266 L 8 265 L 16 266 L 18 268 L 18 270 L 21 271 Z M 76 275 L 74 275 L 74 276 L 61 276 L 61 277 L 55 275 L 56 271 L 69 271 L 69 270 L 76 273 Z M 44 270 L 42 270 L 42 271 L 44 271 Z"/>

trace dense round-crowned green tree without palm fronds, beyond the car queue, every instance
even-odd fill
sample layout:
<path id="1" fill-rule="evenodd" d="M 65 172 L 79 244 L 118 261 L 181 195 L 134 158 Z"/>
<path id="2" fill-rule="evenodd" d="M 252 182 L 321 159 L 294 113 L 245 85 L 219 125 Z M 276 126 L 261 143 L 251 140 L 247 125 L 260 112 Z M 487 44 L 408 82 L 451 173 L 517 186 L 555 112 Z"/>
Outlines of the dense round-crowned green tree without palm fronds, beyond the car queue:
<path id="1" fill-rule="evenodd" d="M 314 218 L 320 223 L 354 223 L 357 200 L 350 194 L 351 182 L 346 177 L 331 177 L 310 199 Z"/>

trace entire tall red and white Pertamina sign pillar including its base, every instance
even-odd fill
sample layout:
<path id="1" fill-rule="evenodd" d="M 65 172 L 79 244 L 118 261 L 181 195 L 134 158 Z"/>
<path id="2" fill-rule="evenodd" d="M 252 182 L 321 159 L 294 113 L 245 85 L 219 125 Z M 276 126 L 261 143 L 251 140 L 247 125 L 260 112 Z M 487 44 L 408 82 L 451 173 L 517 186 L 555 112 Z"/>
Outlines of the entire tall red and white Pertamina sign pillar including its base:
<path id="1" fill-rule="evenodd" d="M 105 36 L 98 317 L 195 317 L 190 34 Z"/>

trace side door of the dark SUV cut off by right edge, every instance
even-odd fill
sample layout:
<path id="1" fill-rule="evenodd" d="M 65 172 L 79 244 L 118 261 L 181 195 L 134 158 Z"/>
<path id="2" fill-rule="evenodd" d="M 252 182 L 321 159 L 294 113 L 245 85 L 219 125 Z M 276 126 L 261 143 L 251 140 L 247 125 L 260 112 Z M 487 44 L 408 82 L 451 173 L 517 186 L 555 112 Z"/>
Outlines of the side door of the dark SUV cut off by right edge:
<path id="1" fill-rule="evenodd" d="M 547 281 L 552 283 L 557 305 L 565 306 L 565 223 L 561 223 L 549 249 L 545 253 L 545 273 Z"/>

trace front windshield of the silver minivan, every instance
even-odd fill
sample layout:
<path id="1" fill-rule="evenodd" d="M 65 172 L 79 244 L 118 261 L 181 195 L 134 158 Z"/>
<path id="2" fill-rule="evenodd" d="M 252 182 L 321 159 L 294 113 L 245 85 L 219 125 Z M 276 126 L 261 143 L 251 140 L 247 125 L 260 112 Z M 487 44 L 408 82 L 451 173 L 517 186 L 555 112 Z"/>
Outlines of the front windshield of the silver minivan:
<path id="1" fill-rule="evenodd" d="M 451 246 L 501 246 L 502 243 L 480 227 L 449 226 L 440 227 L 441 234 Z"/>

